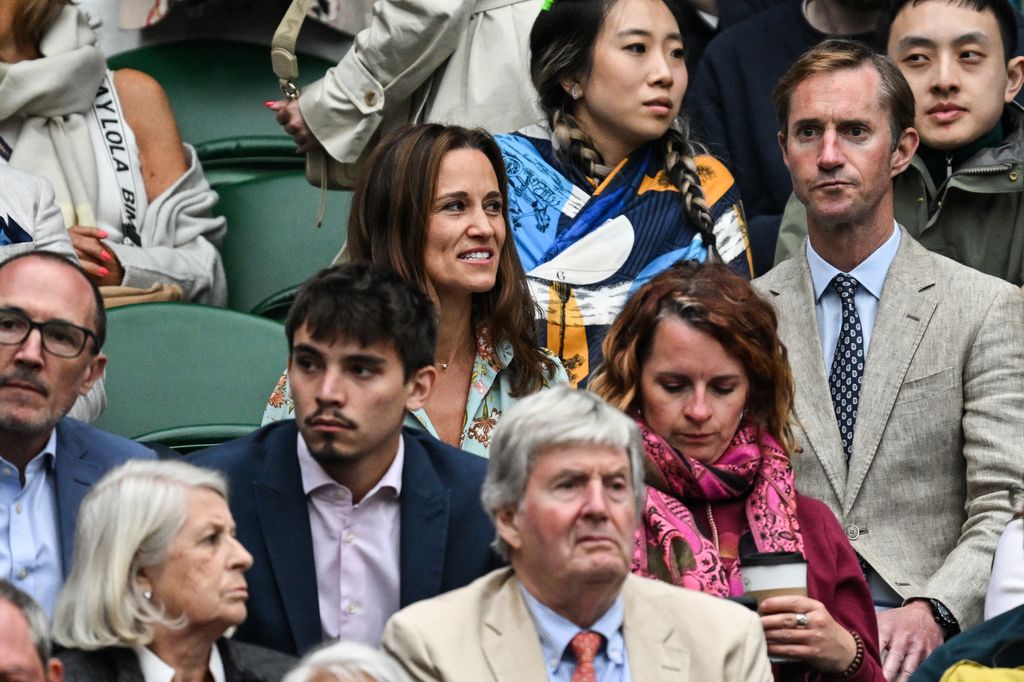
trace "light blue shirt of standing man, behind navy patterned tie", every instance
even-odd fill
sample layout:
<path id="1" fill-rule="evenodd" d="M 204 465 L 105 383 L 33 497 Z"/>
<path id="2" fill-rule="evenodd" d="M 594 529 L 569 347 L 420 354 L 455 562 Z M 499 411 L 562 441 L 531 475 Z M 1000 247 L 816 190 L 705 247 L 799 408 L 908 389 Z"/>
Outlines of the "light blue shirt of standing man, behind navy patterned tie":
<path id="1" fill-rule="evenodd" d="M 879 299 L 882 298 L 882 287 L 889 274 L 889 266 L 899 249 L 899 227 L 893 223 L 893 233 L 885 244 L 874 250 L 860 265 L 846 274 L 855 278 L 860 286 L 853 297 L 860 315 L 860 328 L 864 334 L 864 351 L 870 356 L 871 332 L 874 329 L 874 316 L 879 311 Z M 836 354 L 836 343 L 839 341 L 839 330 L 843 327 L 843 303 L 839 294 L 831 288 L 831 281 L 840 273 L 831 264 L 825 262 L 811 247 L 807 240 L 807 264 L 811 268 L 811 284 L 814 287 L 814 313 L 818 321 L 818 338 L 821 340 L 821 352 L 824 355 L 825 376 L 831 372 L 833 356 Z"/>

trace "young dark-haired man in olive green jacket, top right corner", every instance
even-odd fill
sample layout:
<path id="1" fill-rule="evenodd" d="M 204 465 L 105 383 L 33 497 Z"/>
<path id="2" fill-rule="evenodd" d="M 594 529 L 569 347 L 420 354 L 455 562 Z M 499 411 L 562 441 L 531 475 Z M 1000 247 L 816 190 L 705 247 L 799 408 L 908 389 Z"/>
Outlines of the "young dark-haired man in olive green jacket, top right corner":
<path id="1" fill-rule="evenodd" d="M 926 248 L 1024 284 L 1024 84 L 1007 0 L 896 0 L 887 52 L 910 83 L 921 146 L 893 180 L 896 220 Z M 791 198 L 775 252 L 799 252 L 804 207 Z"/>

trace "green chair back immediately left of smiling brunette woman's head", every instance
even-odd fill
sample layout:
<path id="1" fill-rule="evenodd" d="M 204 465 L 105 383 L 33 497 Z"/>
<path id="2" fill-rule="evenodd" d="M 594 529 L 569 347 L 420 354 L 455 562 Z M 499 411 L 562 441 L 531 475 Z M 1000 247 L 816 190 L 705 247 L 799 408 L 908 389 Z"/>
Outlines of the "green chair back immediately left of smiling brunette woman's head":
<path id="1" fill-rule="evenodd" d="M 327 193 L 324 225 L 316 227 L 321 190 L 301 172 L 276 173 L 218 189 L 217 213 L 227 219 L 220 255 L 227 305 L 281 318 L 280 295 L 327 267 L 345 242 L 351 193 Z"/>

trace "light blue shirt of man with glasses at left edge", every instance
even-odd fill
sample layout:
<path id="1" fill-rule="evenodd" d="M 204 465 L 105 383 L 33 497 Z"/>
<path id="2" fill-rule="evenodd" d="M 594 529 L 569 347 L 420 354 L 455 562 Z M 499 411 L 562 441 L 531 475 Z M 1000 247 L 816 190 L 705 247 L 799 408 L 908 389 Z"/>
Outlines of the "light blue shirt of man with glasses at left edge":
<path id="1" fill-rule="evenodd" d="M 24 487 L 17 467 L 0 457 L 0 578 L 32 595 L 47 615 L 63 586 L 56 445 L 54 429 L 43 452 L 25 467 Z"/>

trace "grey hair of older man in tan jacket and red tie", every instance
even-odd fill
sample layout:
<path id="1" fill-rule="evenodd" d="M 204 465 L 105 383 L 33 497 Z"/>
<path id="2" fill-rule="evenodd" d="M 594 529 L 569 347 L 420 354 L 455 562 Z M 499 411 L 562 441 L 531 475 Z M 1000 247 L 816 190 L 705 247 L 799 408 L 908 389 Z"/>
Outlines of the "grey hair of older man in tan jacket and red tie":
<path id="1" fill-rule="evenodd" d="M 643 443 L 632 419 L 594 393 L 555 386 L 522 398 L 502 415 L 487 451 L 487 475 L 480 500 L 495 520 L 518 508 L 537 455 L 558 445 L 592 444 L 626 452 L 637 516 L 643 510 Z M 495 550 L 508 558 L 501 536 Z"/>

